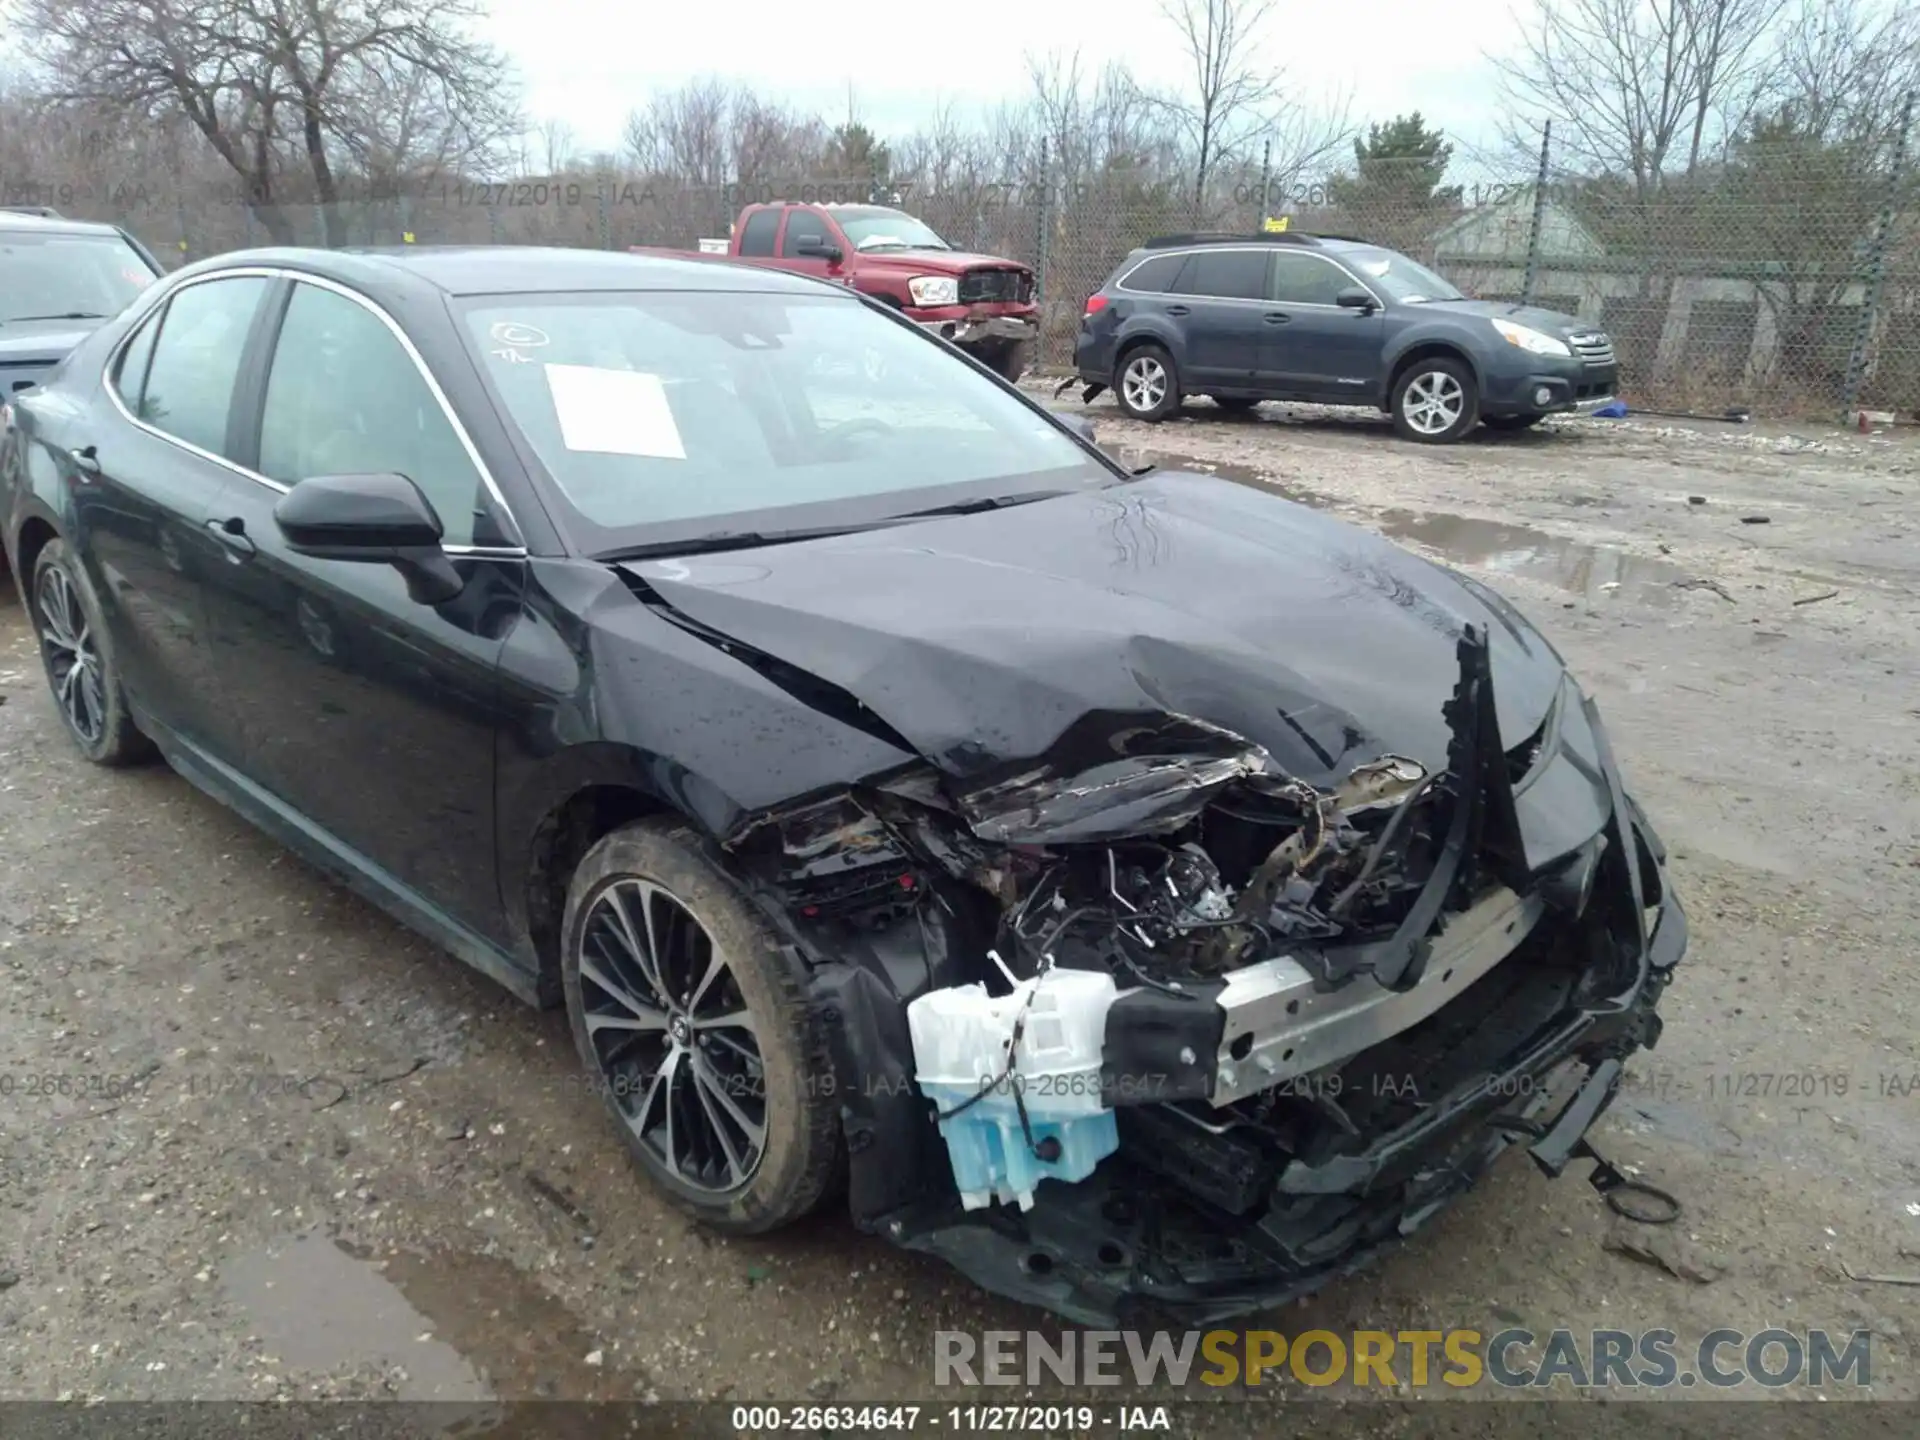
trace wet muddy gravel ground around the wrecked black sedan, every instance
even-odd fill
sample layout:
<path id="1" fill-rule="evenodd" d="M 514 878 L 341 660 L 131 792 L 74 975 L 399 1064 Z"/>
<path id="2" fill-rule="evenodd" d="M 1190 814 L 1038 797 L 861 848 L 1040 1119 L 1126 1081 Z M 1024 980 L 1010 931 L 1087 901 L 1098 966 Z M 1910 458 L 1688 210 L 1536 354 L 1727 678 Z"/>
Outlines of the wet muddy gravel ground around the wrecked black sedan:
<path id="1" fill-rule="evenodd" d="M 1684 1202 L 1665 1265 L 1615 1248 L 1649 1231 L 1576 1173 L 1513 1158 L 1384 1265 L 1250 1323 L 1665 1327 L 1682 1354 L 1716 1327 L 1868 1329 L 1866 1394 L 1920 1400 L 1920 1288 L 1847 1275 L 1920 1275 L 1920 447 L 1594 420 L 1427 449 L 1271 405 L 1089 413 L 1110 447 L 1325 505 L 1521 603 L 1605 707 L 1693 918 L 1667 1035 L 1597 1131 Z M 693 1229 L 630 1169 L 561 1016 L 165 768 L 84 766 L 12 589 L 0 701 L 0 1398 L 899 1402 L 935 1396 L 933 1331 L 1060 1331 L 839 1217 Z M 1317 1394 L 1240 1392 L 1233 1425 Z M 1828 1407 L 1822 1432 L 1910 1432 L 1895 1409 Z"/>

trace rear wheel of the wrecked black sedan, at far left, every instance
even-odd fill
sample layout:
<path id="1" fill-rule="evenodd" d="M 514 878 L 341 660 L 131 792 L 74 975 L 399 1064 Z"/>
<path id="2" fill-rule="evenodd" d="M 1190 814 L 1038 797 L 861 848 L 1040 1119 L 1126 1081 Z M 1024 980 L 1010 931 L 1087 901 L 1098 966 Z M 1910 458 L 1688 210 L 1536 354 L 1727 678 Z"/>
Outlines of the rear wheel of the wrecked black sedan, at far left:
<path id="1" fill-rule="evenodd" d="M 113 768 L 152 756 L 154 743 L 132 722 L 121 691 L 100 597 L 65 541 L 50 540 L 40 547 L 27 593 L 54 708 L 81 755 Z"/>

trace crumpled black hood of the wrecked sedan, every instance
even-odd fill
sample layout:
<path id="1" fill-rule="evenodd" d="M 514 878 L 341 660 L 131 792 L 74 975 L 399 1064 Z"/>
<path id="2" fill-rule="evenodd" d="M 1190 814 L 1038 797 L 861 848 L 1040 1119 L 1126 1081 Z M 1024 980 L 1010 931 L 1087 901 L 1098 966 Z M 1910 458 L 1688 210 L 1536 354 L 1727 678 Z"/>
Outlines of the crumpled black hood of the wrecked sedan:
<path id="1" fill-rule="evenodd" d="M 1490 637 L 1503 747 L 1540 728 L 1563 678 L 1475 582 L 1200 474 L 626 568 L 856 697 L 958 781 L 1027 760 L 1092 770 L 1123 753 L 1119 732 L 1169 716 L 1315 785 L 1380 755 L 1444 770 L 1463 626 Z"/>

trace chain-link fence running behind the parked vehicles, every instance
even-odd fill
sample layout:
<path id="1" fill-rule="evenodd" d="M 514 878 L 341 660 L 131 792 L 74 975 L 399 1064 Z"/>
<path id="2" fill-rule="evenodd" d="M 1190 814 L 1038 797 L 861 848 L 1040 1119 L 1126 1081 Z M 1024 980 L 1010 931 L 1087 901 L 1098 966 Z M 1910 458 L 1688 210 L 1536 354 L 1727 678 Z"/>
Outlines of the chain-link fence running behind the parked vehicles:
<path id="1" fill-rule="evenodd" d="M 1469 296 L 1605 328 L 1634 405 L 1761 417 L 1920 407 L 1920 196 L 1905 115 L 1872 140 L 1774 134 L 1642 182 L 1569 173 L 1546 140 L 1524 161 L 1365 159 L 1329 175 L 1244 165 L 1204 182 L 1112 163 L 1066 173 L 1041 150 L 1020 173 L 943 182 L 687 184 L 609 167 L 344 186 L 330 205 L 265 205 L 217 184 L 0 177 L 0 204 L 117 221 L 159 253 L 198 259 L 265 244 L 693 248 L 726 236 L 747 202 L 885 200 L 960 250 L 1037 271 L 1048 367 L 1071 363 L 1085 298 L 1148 236 L 1284 219 L 1404 252 Z"/>

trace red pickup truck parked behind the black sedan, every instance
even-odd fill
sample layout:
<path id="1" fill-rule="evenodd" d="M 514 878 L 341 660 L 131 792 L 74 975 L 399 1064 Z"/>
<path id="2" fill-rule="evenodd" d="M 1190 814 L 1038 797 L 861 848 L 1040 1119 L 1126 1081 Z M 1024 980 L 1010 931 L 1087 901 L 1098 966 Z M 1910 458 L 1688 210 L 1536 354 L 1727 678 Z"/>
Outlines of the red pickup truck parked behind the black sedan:
<path id="1" fill-rule="evenodd" d="M 657 255 L 660 252 L 634 246 Z M 1018 380 L 1039 336 L 1033 271 L 996 255 L 968 255 L 922 221 L 885 205 L 747 205 L 726 242 L 703 255 L 816 275 L 883 300 L 916 324 L 952 340 L 989 369 Z"/>

